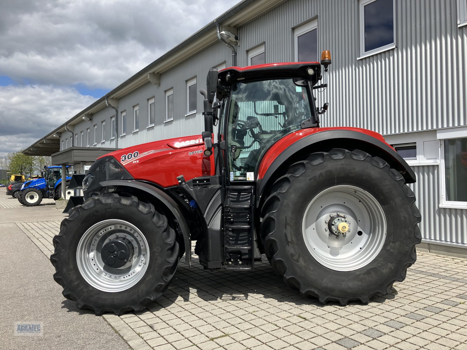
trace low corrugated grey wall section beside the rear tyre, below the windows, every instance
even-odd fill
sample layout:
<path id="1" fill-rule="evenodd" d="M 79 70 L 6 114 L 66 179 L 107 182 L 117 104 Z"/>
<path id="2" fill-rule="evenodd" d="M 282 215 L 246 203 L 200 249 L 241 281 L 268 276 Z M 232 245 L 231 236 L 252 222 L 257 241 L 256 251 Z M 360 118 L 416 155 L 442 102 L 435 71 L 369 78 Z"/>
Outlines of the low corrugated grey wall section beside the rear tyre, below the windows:
<path id="1" fill-rule="evenodd" d="M 439 208 L 439 166 L 414 166 L 417 182 L 409 187 L 417 196 L 424 239 L 467 244 L 467 210 Z"/>

